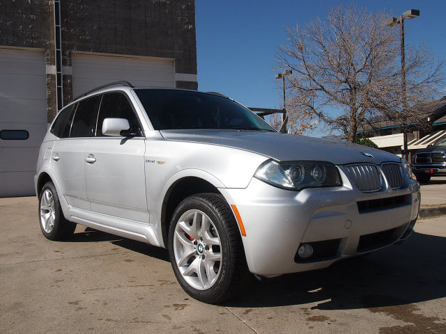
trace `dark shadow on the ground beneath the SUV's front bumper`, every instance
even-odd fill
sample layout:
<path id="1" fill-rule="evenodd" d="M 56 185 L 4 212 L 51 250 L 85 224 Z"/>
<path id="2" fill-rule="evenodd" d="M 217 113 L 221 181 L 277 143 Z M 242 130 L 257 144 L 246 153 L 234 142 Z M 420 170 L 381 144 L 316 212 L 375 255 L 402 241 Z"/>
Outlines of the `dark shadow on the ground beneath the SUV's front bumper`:
<path id="1" fill-rule="evenodd" d="M 317 303 L 318 310 L 377 308 L 446 296 L 446 238 L 414 233 L 404 244 L 318 271 L 294 273 L 250 285 L 224 303 L 263 308 Z"/>

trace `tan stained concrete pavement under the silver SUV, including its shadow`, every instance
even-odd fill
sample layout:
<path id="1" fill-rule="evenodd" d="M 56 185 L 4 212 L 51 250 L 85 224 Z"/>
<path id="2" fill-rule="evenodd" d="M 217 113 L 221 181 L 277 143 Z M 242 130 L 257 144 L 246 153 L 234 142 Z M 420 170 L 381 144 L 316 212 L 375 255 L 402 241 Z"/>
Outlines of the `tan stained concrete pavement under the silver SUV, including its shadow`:
<path id="1" fill-rule="evenodd" d="M 187 296 L 167 250 L 82 226 L 48 241 L 37 217 L 36 198 L 0 198 L 1 333 L 446 333 L 445 217 L 224 305 Z"/>

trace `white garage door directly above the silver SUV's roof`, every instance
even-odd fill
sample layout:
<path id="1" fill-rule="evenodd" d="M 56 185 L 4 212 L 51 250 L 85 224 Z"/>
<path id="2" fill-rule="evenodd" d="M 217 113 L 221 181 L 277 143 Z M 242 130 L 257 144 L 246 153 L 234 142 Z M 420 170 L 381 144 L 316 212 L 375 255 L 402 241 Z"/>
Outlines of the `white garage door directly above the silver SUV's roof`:
<path id="1" fill-rule="evenodd" d="M 175 87 L 174 61 L 152 57 L 73 54 L 72 85 L 77 97 L 87 90 L 126 80 L 134 86 Z"/>

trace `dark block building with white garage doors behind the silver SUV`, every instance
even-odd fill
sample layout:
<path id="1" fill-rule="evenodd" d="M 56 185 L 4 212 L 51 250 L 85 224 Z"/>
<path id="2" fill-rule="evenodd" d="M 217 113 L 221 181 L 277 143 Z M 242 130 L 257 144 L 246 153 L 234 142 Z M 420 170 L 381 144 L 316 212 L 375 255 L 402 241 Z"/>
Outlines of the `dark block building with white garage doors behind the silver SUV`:
<path id="1" fill-rule="evenodd" d="M 5 0 L 0 17 L 0 197 L 33 195 L 48 123 L 73 97 L 120 80 L 198 88 L 194 0 Z"/>

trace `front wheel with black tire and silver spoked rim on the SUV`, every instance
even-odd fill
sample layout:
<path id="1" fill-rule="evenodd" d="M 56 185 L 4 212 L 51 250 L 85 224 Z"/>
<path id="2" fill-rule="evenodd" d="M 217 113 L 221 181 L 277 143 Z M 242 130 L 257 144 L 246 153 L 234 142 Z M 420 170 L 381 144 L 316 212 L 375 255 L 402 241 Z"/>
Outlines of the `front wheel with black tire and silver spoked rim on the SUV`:
<path id="1" fill-rule="evenodd" d="M 190 196 L 176 207 L 169 226 L 169 256 L 178 283 L 203 303 L 230 299 L 248 277 L 236 219 L 215 193 Z"/>

